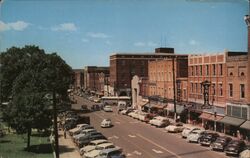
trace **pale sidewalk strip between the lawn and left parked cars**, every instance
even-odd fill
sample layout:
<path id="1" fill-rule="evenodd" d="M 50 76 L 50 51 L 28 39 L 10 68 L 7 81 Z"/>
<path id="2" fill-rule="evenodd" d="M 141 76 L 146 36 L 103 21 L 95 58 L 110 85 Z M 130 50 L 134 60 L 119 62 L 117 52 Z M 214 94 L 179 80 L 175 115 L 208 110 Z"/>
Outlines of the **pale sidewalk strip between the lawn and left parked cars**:
<path id="1" fill-rule="evenodd" d="M 63 137 L 63 130 L 58 131 L 59 135 L 59 154 L 60 158 L 81 158 L 77 147 L 67 134 L 66 139 Z"/>

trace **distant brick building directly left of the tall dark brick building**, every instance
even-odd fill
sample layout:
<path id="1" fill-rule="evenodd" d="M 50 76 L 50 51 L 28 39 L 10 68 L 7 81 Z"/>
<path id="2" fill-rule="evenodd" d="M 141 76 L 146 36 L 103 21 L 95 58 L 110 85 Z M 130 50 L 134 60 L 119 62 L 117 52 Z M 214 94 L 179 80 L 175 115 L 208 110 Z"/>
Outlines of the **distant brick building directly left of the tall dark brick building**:
<path id="1" fill-rule="evenodd" d="M 84 69 L 84 89 L 88 93 L 104 95 L 104 79 L 109 75 L 109 67 L 87 66 Z"/>

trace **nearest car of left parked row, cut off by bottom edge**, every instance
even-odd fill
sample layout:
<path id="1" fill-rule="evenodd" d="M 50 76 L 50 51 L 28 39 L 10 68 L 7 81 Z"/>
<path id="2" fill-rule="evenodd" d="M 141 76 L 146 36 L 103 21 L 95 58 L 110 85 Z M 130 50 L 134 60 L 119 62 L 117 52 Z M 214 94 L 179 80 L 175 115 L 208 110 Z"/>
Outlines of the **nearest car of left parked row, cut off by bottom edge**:
<path id="1" fill-rule="evenodd" d="M 125 158 L 121 148 L 104 149 L 96 158 Z"/>

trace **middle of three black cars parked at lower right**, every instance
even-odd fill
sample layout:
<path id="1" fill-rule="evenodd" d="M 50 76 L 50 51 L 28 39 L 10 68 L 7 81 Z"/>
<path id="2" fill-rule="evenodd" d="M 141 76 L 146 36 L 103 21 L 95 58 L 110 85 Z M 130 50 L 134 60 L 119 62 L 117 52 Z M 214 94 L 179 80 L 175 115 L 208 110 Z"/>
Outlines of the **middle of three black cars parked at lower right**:
<path id="1" fill-rule="evenodd" d="M 215 142 L 213 142 L 210 147 L 212 150 L 220 150 L 224 151 L 227 144 L 232 140 L 232 138 L 227 136 L 220 136 L 218 137 Z"/>

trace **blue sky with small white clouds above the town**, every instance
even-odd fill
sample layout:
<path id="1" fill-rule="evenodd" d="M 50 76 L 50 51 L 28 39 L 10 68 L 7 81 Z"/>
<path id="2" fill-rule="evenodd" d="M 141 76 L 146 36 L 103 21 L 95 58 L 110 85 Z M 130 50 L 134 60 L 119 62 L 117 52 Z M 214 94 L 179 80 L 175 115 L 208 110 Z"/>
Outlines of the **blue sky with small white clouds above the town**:
<path id="1" fill-rule="evenodd" d="M 1 0 L 0 51 L 37 45 L 72 68 L 114 53 L 247 51 L 248 0 Z"/>

